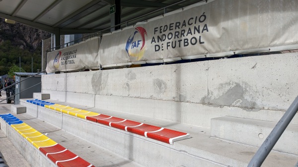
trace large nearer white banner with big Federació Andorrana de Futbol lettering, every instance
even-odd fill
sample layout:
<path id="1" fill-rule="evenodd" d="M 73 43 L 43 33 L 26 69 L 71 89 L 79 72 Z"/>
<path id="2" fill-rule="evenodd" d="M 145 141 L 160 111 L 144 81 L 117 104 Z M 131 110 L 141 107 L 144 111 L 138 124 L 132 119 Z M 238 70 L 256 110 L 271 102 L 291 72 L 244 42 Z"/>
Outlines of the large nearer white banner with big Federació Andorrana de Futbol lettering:
<path id="1" fill-rule="evenodd" d="M 297 0 L 208 0 L 102 38 L 102 67 L 298 48 Z"/>

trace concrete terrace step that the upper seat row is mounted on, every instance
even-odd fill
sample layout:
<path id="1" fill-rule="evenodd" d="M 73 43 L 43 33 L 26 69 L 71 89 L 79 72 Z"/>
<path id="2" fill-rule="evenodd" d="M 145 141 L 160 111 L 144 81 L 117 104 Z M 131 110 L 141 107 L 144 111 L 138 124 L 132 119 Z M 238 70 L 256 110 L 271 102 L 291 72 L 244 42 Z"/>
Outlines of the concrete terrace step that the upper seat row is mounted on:
<path id="1" fill-rule="evenodd" d="M 190 139 L 169 145 L 21 100 L 21 104 L 27 107 L 27 113 L 146 167 L 247 167 L 257 151 L 256 147 L 211 138 L 210 129 L 206 128 L 57 100 L 47 101 L 191 134 Z M 297 161 L 296 155 L 271 152 L 262 167 L 292 167 Z"/>

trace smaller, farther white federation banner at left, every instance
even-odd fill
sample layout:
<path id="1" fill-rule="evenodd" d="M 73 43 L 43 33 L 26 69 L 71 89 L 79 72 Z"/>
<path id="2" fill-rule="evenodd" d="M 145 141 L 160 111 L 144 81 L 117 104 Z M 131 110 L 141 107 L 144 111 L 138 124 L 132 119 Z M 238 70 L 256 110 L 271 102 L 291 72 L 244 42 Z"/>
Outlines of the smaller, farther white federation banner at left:
<path id="1" fill-rule="evenodd" d="M 100 38 L 94 37 L 57 51 L 47 53 L 46 71 L 77 71 L 99 69 Z"/>

